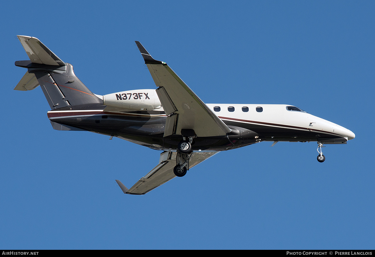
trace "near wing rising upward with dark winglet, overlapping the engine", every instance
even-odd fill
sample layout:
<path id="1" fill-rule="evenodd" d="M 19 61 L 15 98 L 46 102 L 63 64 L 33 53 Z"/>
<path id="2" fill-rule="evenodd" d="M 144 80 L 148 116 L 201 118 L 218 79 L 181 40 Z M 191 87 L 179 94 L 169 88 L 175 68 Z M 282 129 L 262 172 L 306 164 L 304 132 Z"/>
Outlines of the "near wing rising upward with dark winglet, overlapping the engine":
<path id="1" fill-rule="evenodd" d="M 159 87 L 157 96 L 168 116 L 164 136 L 181 135 L 181 130 L 201 136 L 225 136 L 231 129 L 164 62 L 154 60 L 146 49 L 135 41 L 145 64 Z M 184 134 L 184 136 L 191 136 Z"/>

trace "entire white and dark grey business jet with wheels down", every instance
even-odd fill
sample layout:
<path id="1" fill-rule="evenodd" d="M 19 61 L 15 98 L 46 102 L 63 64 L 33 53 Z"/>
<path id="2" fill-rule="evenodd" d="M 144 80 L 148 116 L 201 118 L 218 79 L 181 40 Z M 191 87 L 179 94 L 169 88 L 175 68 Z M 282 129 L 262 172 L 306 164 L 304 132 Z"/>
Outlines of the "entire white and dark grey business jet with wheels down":
<path id="1" fill-rule="evenodd" d="M 30 60 L 15 65 L 27 72 L 14 88 L 40 85 L 51 107 L 56 130 L 85 130 L 119 137 L 163 151 L 157 164 L 126 194 L 145 194 L 219 151 L 263 141 L 345 144 L 354 133 L 292 105 L 205 104 L 164 62 L 154 60 L 136 41 L 157 89 L 129 90 L 99 96 L 35 37 L 18 36 Z"/>

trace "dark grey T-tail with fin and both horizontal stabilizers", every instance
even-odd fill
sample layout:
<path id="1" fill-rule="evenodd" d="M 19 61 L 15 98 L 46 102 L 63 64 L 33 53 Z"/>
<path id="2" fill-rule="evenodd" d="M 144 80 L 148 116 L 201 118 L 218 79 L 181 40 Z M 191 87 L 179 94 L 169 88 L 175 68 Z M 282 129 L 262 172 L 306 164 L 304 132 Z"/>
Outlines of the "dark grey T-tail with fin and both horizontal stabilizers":
<path id="1" fill-rule="evenodd" d="M 27 68 L 15 90 L 33 90 L 40 85 L 51 109 L 103 106 L 101 96 L 93 94 L 75 76 L 71 64 L 63 62 L 37 38 L 17 37 L 30 60 L 15 62 L 16 66 Z"/>

